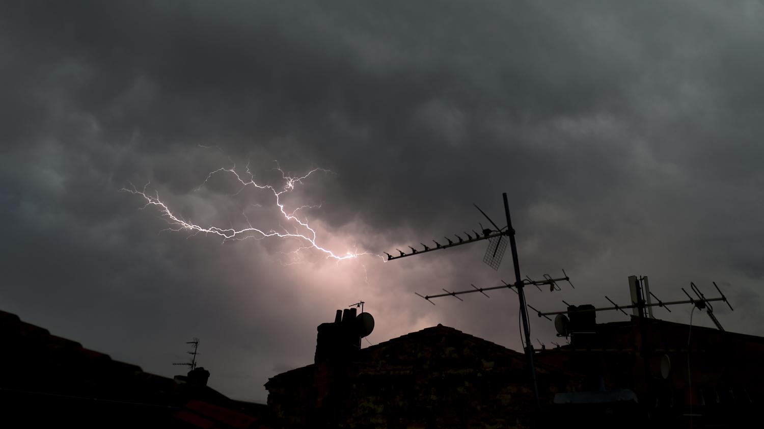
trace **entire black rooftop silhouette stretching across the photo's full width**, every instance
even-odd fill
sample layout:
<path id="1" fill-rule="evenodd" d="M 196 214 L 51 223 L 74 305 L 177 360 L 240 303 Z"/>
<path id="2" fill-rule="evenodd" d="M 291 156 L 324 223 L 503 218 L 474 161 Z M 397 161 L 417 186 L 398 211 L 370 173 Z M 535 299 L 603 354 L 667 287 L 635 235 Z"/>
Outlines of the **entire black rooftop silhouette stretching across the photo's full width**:
<path id="1" fill-rule="evenodd" d="M 578 310 L 587 309 L 579 306 Z M 523 353 L 438 325 L 361 348 L 354 310 L 318 327 L 314 362 L 234 401 L 201 367 L 144 372 L 0 311 L 2 427 L 743 427 L 764 404 L 764 338 L 569 314 L 570 343 Z"/>

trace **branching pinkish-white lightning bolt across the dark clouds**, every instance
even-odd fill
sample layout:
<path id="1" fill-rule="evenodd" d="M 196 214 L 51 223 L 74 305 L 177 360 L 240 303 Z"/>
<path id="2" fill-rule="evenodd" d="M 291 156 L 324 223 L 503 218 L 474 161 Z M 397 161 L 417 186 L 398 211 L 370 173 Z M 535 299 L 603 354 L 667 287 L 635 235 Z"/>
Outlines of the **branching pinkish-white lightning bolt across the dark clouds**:
<path id="1" fill-rule="evenodd" d="M 300 219 L 297 216 L 297 213 L 300 210 L 306 210 L 306 209 L 312 209 L 312 208 L 319 208 L 321 205 L 305 205 L 305 206 L 299 206 L 294 210 L 286 210 L 285 204 L 282 203 L 281 197 L 289 193 L 290 191 L 294 190 L 297 186 L 303 184 L 303 180 L 306 180 L 308 177 L 310 177 L 312 174 L 320 171 L 324 173 L 331 173 L 329 170 L 325 170 L 323 168 L 315 168 L 311 171 L 309 171 L 307 174 L 299 177 L 291 177 L 290 175 L 286 174 L 280 167 L 280 165 L 277 163 L 276 168 L 274 168 L 274 171 L 279 171 L 281 173 L 281 178 L 283 179 L 283 186 L 281 187 L 274 187 L 270 184 L 258 184 L 254 180 L 254 174 L 250 171 L 249 164 L 247 164 L 246 168 L 246 176 L 241 177 L 241 175 L 235 170 L 235 165 L 226 168 L 222 167 L 215 171 L 211 171 L 207 178 L 202 182 L 199 187 L 196 188 L 196 190 L 200 190 L 202 187 L 204 187 L 207 182 L 212 179 L 217 174 L 229 174 L 232 177 L 235 177 L 236 180 L 238 180 L 238 183 L 241 184 L 241 187 L 239 190 L 234 193 L 233 195 L 238 195 L 241 193 L 242 190 L 248 188 L 248 187 L 255 187 L 260 190 L 270 191 L 270 193 L 273 194 L 275 205 L 278 207 L 278 210 L 280 211 L 280 214 L 283 216 L 283 219 L 285 219 L 287 222 L 292 223 L 294 226 L 294 231 L 288 231 L 286 228 L 283 228 L 283 232 L 276 231 L 274 229 L 261 229 L 257 228 L 256 226 L 253 226 L 250 219 L 246 215 L 246 213 L 242 212 L 241 214 L 244 216 L 244 220 L 247 223 L 246 228 L 242 229 L 235 229 L 232 226 L 230 228 L 222 228 L 219 226 L 201 226 L 197 225 L 196 223 L 192 223 L 190 221 L 187 221 L 186 219 L 183 219 L 181 216 L 176 215 L 173 213 L 172 210 L 170 210 L 170 207 L 167 206 L 166 203 L 164 203 L 162 200 L 160 200 L 158 191 L 154 191 L 154 195 L 151 195 L 150 193 L 147 193 L 147 187 L 149 184 L 146 184 L 142 190 L 138 190 L 134 185 L 132 185 L 131 188 L 122 188 L 121 191 L 123 192 L 129 192 L 136 195 L 140 195 L 145 200 L 145 205 L 142 207 L 145 209 L 148 206 L 157 206 L 157 208 L 160 211 L 161 216 L 167 220 L 167 223 L 170 224 L 170 230 L 172 231 L 187 231 L 191 232 L 191 236 L 196 236 L 196 234 L 203 233 L 205 235 L 214 234 L 216 236 L 221 236 L 222 241 L 226 242 L 229 240 L 244 240 L 244 239 L 267 239 L 270 237 L 277 237 L 279 239 L 298 239 L 299 242 L 302 242 L 303 244 L 299 246 L 298 249 L 294 249 L 291 252 L 287 252 L 287 254 L 293 255 L 293 262 L 296 263 L 299 262 L 299 258 L 297 255 L 299 255 L 300 252 L 313 249 L 315 251 L 321 252 L 327 259 L 335 259 L 337 262 L 344 261 L 346 259 L 351 258 L 358 258 L 358 256 L 361 255 L 371 255 L 369 252 L 358 252 L 358 249 L 354 249 L 352 252 L 348 251 L 344 254 L 342 253 L 335 253 L 332 252 L 329 249 L 326 249 L 325 247 L 322 247 L 322 245 L 319 245 L 317 242 L 317 234 L 316 229 L 313 229 L 308 224 L 308 219 L 305 218 Z M 259 206 L 257 204 L 253 204 L 253 206 Z M 291 265 L 290 263 L 289 265 Z"/>

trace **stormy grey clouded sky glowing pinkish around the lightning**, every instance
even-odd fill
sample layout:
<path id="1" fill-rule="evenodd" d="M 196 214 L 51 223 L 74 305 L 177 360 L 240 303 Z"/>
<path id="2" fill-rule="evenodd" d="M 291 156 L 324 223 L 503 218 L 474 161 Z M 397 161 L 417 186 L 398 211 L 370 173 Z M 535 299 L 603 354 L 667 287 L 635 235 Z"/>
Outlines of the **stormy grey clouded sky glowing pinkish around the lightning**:
<path id="1" fill-rule="evenodd" d="M 332 171 L 285 203 L 321 203 L 300 213 L 334 252 L 478 229 L 472 203 L 501 219 L 507 192 L 523 274 L 576 286 L 529 290 L 534 307 L 626 303 L 629 275 L 664 300 L 717 281 L 724 327 L 764 335 L 762 22 L 745 1 L 2 2 L 0 309 L 167 376 L 198 336 L 212 387 L 253 401 L 359 300 L 371 343 L 443 323 L 521 348 L 510 291 L 414 295 L 513 281 L 487 242 L 290 264 L 296 240 L 162 232 L 119 192 L 151 182 L 204 226 L 250 207 L 279 228 L 267 193 L 196 190 L 248 161 L 277 185 L 278 160 Z"/>

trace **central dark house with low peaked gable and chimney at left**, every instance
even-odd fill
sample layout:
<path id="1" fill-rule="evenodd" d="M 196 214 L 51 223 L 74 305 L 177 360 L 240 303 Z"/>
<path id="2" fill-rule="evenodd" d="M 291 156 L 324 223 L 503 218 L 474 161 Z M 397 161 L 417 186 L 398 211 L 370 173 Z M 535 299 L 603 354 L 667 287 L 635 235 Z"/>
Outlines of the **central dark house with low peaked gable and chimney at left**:
<path id="1" fill-rule="evenodd" d="M 315 363 L 265 385 L 280 427 L 528 427 L 533 418 L 521 353 L 442 325 L 358 349 L 360 338 L 326 325 Z M 543 402 L 581 387 L 545 364 L 536 374 Z"/>

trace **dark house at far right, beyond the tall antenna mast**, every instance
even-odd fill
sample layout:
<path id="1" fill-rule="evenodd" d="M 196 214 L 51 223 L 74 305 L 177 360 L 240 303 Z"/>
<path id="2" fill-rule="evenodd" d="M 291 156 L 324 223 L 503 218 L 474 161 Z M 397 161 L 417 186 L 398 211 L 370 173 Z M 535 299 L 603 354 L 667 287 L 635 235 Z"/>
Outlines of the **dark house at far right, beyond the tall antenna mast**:
<path id="1" fill-rule="evenodd" d="M 652 427 L 743 427 L 759 419 L 764 338 L 649 317 L 597 324 L 591 316 L 569 345 L 536 360 L 580 372 L 589 392 L 634 392 Z M 556 399 L 569 418 L 587 411 L 586 394 Z"/>

